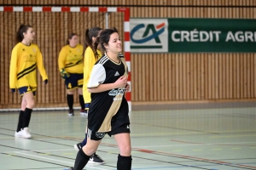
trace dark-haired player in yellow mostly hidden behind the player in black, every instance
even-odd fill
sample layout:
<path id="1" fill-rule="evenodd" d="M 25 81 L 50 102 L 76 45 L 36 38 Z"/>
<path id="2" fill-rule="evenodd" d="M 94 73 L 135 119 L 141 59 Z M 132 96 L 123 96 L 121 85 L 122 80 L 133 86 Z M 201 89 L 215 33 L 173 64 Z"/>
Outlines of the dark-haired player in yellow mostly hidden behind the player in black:
<path id="1" fill-rule="evenodd" d="M 96 61 L 102 57 L 101 51 L 98 49 L 98 44 L 96 43 L 96 37 L 98 37 L 99 32 L 102 28 L 92 27 L 85 31 L 85 41 L 84 41 L 84 85 L 83 85 L 83 96 L 84 96 L 84 106 L 85 111 L 88 111 L 90 106 L 90 93 L 87 89 L 87 84 L 90 79 L 90 72 L 95 65 Z M 87 141 L 87 133 L 85 132 L 85 138 L 82 143 L 74 144 L 75 150 L 81 149 Z M 104 161 L 96 153 L 90 157 L 89 163 L 93 164 L 103 164 Z"/>

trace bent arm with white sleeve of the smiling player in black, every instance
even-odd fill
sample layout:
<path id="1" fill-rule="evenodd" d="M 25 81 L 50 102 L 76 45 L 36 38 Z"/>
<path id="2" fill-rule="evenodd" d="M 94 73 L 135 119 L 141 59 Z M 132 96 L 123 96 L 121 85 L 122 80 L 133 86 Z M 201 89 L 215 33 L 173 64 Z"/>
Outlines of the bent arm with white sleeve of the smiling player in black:
<path id="1" fill-rule="evenodd" d="M 116 82 L 102 84 L 106 79 L 106 71 L 102 65 L 94 65 L 87 88 L 90 93 L 101 93 L 113 88 L 125 88 L 127 77 L 119 77 Z"/>

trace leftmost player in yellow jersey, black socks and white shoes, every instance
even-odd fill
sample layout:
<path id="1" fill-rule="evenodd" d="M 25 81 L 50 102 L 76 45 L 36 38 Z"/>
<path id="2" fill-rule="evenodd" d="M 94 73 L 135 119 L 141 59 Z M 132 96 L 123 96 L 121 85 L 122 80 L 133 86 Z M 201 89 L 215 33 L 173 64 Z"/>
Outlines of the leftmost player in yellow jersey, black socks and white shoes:
<path id="1" fill-rule="evenodd" d="M 48 83 L 48 77 L 44 70 L 43 57 L 38 46 L 32 43 L 35 32 L 32 26 L 20 25 L 16 33 L 17 44 L 12 50 L 9 87 L 15 93 L 18 88 L 22 96 L 21 111 L 15 137 L 31 138 L 28 125 L 31 119 L 32 108 L 35 105 L 34 95 L 37 90 L 37 71 L 43 77 L 44 83 Z"/>

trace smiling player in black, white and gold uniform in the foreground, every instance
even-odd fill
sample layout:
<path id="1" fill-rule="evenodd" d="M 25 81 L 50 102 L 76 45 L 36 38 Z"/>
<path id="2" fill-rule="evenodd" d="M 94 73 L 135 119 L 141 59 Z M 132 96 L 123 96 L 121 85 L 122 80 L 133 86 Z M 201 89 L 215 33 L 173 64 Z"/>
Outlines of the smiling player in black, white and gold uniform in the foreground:
<path id="1" fill-rule="evenodd" d="M 69 169 L 82 170 L 108 133 L 119 146 L 117 169 L 131 170 L 130 120 L 125 99 L 130 85 L 125 58 L 119 54 L 122 42 L 115 28 L 101 31 L 98 40 L 106 53 L 94 65 L 87 85 L 91 93 L 87 144 L 79 150 L 74 167 Z"/>

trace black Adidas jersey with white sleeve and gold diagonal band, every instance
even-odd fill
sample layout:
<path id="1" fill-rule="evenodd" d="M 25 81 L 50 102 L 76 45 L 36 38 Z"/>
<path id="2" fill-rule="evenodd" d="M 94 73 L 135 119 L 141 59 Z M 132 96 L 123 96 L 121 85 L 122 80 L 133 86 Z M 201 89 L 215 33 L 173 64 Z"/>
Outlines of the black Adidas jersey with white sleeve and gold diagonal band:
<path id="1" fill-rule="evenodd" d="M 119 63 L 116 63 L 104 54 L 94 65 L 87 88 L 116 82 L 124 75 L 127 76 L 127 66 L 123 55 L 119 54 Z M 125 88 L 91 93 L 88 128 L 96 132 L 109 132 L 122 124 L 130 124 L 128 103 L 124 94 Z"/>

